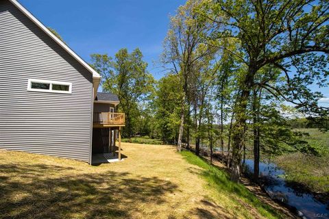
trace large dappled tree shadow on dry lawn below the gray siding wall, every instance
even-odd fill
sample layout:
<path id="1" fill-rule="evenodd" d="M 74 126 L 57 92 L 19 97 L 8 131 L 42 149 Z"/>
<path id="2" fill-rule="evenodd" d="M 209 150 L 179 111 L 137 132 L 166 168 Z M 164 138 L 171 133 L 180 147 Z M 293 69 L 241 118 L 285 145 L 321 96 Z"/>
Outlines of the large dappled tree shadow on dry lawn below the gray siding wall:
<path id="1" fill-rule="evenodd" d="M 164 203 L 164 194 L 177 189 L 128 172 L 82 174 L 43 164 L 3 164 L 0 170 L 1 218 L 130 218 L 138 205 Z"/>

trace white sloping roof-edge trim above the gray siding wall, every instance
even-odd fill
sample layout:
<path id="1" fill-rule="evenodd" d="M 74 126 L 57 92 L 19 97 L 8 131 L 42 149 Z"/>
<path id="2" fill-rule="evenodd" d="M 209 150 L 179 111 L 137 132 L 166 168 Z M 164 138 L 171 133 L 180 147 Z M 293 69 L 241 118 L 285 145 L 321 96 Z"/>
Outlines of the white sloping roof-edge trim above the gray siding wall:
<path id="1" fill-rule="evenodd" d="M 77 53 L 75 53 L 70 47 L 68 47 L 64 42 L 62 42 L 62 40 L 58 39 L 57 36 L 55 36 L 53 33 L 51 33 L 51 31 L 49 31 L 49 29 L 47 27 L 45 27 L 45 25 L 43 25 L 40 21 L 38 21 L 38 19 L 33 16 L 33 14 L 31 14 L 28 10 L 26 10 L 26 8 L 23 7 L 23 5 L 21 5 L 18 1 L 16 0 L 9 0 L 13 5 L 16 6 L 16 8 L 18 8 L 19 10 L 21 10 L 21 12 L 23 12 L 23 14 L 25 14 L 33 23 L 35 23 L 38 27 L 40 27 L 40 29 L 42 29 L 43 31 L 45 31 L 45 33 L 50 36 L 50 38 L 52 38 L 53 40 L 55 40 L 60 47 L 62 47 L 65 51 L 67 51 L 72 57 L 75 58 L 75 60 L 77 60 L 77 62 L 80 62 L 80 64 L 82 64 L 82 66 L 84 66 L 88 71 L 90 71 L 90 73 L 93 74 L 93 79 L 99 81 L 101 76 L 99 75 L 99 73 L 97 73 L 93 68 L 91 68 L 84 60 L 82 60 L 82 58 L 77 55 Z M 98 85 L 97 85 L 98 87 Z"/>

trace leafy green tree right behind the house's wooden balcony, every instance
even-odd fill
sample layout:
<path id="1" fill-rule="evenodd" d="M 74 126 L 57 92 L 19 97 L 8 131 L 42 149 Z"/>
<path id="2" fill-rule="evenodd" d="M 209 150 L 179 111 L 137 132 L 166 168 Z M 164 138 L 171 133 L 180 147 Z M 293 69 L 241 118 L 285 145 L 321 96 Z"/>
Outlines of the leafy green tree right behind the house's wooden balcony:
<path id="1" fill-rule="evenodd" d="M 128 53 L 120 49 L 114 60 L 108 55 L 91 55 L 92 66 L 101 74 L 104 91 L 119 97 L 119 110 L 125 112 L 123 135 L 131 138 L 139 116 L 138 103 L 147 100 L 154 89 L 154 78 L 147 72 L 147 63 L 139 49 Z"/>

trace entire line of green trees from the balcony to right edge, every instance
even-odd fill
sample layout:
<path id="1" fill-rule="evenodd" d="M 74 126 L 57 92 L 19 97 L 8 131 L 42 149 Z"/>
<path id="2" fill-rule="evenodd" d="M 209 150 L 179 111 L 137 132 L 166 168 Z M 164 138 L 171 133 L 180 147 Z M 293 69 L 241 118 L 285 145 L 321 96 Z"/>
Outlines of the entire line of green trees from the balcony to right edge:
<path id="1" fill-rule="evenodd" d="M 321 150 L 301 140 L 292 118 L 324 131 L 328 107 L 315 87 L 328 86 L 329 3 L 320 1 L 186 1 L 171 16 L 160 57 L 165 77 L 155 81 L 141 51 L 114 60 L 93 55 L 103 90 L 119 95 L 124 134 L 166 144 L 226 152 L 238 181 L 246 147 L 254 178 L 260 153 Z M 313 88 L 313 89 L 311 89 Z"/>

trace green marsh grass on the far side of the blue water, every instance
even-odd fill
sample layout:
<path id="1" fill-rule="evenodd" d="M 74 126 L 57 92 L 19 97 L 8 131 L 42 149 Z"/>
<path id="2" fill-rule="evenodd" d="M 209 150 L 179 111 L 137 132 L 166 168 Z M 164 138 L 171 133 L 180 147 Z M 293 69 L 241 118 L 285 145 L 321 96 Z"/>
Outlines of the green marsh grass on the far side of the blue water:
<path id="1" fill-rule="evenodd" d="M 297 129 L 310 134 L 304 140 L 323 149 L 321 157 L 293 153 L 276 157 L 275 161 L 284 169 L 287 181 L 297 183 L 311 192 L 329 194 L 329 132 L 318 129 Z"/>

